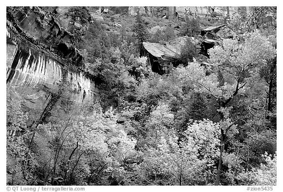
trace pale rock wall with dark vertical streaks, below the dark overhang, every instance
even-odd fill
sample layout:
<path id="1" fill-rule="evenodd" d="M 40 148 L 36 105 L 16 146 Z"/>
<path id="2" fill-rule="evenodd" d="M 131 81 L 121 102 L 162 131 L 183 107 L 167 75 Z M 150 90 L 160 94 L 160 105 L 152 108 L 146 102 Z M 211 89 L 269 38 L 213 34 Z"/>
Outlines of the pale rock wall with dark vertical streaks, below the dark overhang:
<path id="1" fill-rule="evenodd" d="M 82 102 L 97 93 L 94 81 L 84 72 L 65 66 L 41 50 L 12 44 L 7 44 L 6 50 L 7 91 L 23 96 L 28 108 L 42 108 L 48 92 L 63 80 L 70 84 L 73 101 Z"/>

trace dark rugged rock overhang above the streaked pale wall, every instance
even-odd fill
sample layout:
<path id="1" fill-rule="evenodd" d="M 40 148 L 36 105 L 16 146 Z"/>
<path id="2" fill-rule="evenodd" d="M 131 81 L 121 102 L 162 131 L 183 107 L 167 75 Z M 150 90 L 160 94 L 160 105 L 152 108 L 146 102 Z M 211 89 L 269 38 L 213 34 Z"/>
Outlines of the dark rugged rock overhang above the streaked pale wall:
<path id="1" fill-rule="evenodd" d="M 41 42 L 45 47 L 54 49 L 76 63 L 82 60 L 80 52 L 72 47 L 73 34 L 62 28 L 50 12 L 39 7 L 14 8 L 7 11 L 8 22 L 17 25 L 16 29 L 21 35 L 28 35 L 32 40 Z"/>

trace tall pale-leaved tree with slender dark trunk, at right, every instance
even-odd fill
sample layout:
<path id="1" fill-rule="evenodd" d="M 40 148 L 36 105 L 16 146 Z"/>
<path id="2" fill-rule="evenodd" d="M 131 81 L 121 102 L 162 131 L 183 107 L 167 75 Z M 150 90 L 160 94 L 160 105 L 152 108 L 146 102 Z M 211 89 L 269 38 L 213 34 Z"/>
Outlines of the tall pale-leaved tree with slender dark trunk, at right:
<path id="1" fill-rule="evenodd" d="M 253 78 L 258 78 L 256 72 L 261 65 L 276 54 L 267 38 L 262 37 L 258 31 L 250 33 L 244 43 L 236 40 L 224 40 L 223 46 L 216 46 L 209 50 L 210 61 L 214 65 L 215 73 L 205 75 L 204 68 L 198 64 L 190 64 L 182 78 L 195 82 L 195 87 L 200 92 L 205 92 L 218 102 L 218 115 L 221 128 L 221 150 L 215 185 L 220 184 L 222 173 L 223 152 L 227 133 L 239 120 L 230 118 L 227 107 L 237 105 L 233 103 L 236 96 L 244 96 L 245 88 L 252 89 Z M 188 74 L 189 73 L 189 74 Z M 184 75 L 184 76 L 183 76 Z M 237 102 L 241 102 L 237 99 Z M 233 114 L 232 114 L 233 115 Z M 234 118 L 239 118 L 235 117 Z"/>

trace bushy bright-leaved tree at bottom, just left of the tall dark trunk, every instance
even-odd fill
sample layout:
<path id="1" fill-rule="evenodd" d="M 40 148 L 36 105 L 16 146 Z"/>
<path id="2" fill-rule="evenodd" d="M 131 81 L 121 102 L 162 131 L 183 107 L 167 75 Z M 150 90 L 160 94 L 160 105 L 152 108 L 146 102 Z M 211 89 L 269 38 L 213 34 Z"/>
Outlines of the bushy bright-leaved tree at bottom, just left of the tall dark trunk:
<path id="1" fill-rule="evenodd" d="M 166 118 L 165 118 L 166 119 Z M 159 132 L 159 141 L 144 152 L 142 172 L 156 185 L 205 185 L 215 174 L 214 159 L 219 154 L 219 124 L 194 121 L 178 140 L 173 130 Z"/>

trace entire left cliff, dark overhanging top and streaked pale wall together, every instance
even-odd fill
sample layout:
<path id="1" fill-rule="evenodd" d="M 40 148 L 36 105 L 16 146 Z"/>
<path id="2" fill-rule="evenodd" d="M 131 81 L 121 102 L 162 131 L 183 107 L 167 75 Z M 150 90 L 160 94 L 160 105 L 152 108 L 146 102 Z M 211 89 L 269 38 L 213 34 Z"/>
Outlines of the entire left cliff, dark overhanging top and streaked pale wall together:
<path id="1" fill-rule="evenodd" d="M 81 68 L 82 55 L 72 47 L 72 35 L 47 12 L 38 7 L 7 10 L 6 31 L 6 87 L 22 96 L 25 107 L 44 108 L 49 93 L 63 81 L 72 100 L 96 95 L 91 75 Z"/>

